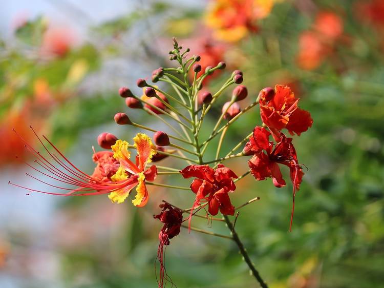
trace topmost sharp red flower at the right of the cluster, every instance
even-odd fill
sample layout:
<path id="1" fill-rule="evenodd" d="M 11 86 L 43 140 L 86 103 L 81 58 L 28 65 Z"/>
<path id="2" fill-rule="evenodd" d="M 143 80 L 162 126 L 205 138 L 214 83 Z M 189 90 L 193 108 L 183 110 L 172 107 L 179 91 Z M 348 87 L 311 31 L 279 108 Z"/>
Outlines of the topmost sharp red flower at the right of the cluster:
<path id="1" fill-rule="evenodd" d="M 298 98 L 288 86 L 276 85 L 275 94 L 268 98 L 262 90 L 260 97 L 260 114 L 263 122 L 272 131 L 280 131 L 284 128 L 291 135 L 301 133 L 308 130 L 312 126 L 313 119 L 311 114 L 303 109 L 298 108 Z"/>

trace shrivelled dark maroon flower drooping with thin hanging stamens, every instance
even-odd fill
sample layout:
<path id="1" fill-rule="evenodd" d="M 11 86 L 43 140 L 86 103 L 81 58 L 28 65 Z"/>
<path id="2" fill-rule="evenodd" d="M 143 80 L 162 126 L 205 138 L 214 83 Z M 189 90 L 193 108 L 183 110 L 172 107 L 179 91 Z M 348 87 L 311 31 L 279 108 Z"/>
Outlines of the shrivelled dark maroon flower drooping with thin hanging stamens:
<path id="1" fill-rule="evenodd" d="M 157 258 L 160 262 L 160 281 L 159 287 L 163 287 L 164 278 L 167 279 L 165 267 L 164 267 L 164 245 L 169 245 L 169 239 L 179 235 L 181 222 L 183 221 L 183 215 L 177 208 L 173 208 L 170 204 L 161 204 L 162 211 L 160 214 L 155 215 L 154 218 L 159 219 L 164 223 L 163 228 L 159 233 L 159 249 L 157 251 Z"/>

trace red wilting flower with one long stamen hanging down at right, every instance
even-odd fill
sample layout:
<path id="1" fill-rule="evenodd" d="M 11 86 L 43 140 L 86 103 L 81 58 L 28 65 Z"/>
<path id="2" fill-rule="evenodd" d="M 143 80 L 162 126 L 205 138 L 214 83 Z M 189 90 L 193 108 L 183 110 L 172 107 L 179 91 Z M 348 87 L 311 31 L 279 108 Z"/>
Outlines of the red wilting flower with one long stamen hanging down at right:
<path id="1" fill-rule="evenodd" d="M 293 206 L 290 222 L 292 228 L 292 218 L 294 210 L 294 197 L 296 190 L 300 188 L 304 175 L 303 169 L 297 161 L 296 150 L 292 144 L 292 138 L 287 138 L 280 133 L 280 141 L 274 145 L 269 141 L 269 133 L 265 128 L 256 127 L 253 135 L 246 144 L 245 150 L 253 153 L 248 161 L 251 174 L 256 180 L 272 178 L 274 186 L 280 188 L 285 186 L 285 180 L 278 164 L 283 164 L 289 168 L 290 178 L 293 184 Z"/>

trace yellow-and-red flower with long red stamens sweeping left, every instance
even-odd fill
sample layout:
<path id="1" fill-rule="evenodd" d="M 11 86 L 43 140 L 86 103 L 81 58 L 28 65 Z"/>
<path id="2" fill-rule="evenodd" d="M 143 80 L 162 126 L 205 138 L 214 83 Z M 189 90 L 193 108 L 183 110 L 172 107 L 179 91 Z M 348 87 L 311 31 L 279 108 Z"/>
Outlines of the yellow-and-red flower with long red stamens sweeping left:
<path id="1" fill-rule="evenodd" d="M 32 127 L 31 127 L 32 129 Z M 129 152 L 129 144 L 126 141 L 118 139 L 113 145 L 111 151 L 95 152 L 93 161 L 96 163 L 96 168 L 92 175 L 89 175 L 78 169 L 65 155 L 58 150 L 47 137 L 43 138 L 49 143 L 45 143 L 38 137 L 35 131 L 33 133 L 38 141 L 44 147 L 48 155 L 44 156 L 39 151 L 35 150 L 21 136 L 20 139 L 24 142 L 25 148 L 36 159 L 35 166 L 27 164 L 34 171 L 49 177 L 56 181 L 55 184 L 41 180 L 29 173 L 27 176 L 36 181 L 46 184 L 49 187 L 66 191 L 65 193 L 51 192 L 31 189 L 29 187 L 20 186 L 9 182 L 13 186 L 23 188 L 29 193 L 39 192 L 50 195 L 60 196 L 91 196 L 109 194 L 112 202 L 122 203 L 127 196 L 130 195 L 133 188 L 136 187 L 136 197 L 132 203 L 137 207 L 143 207 L 148 201 L 148 191 L 145 186 L 145 181 L 153 181 L 157 175 L 155 165 L 146 168 L 151 162 L 152 156 L 156 154 L 156 148 L 149 136 L 138 133 L 134 138 L 134 148 L 137 150 L 136 163 L 130 160 L 131 153 Z M 17 134 L 17 132 L 16 132 Z M 17 134 L 18 135 L 18 134 Z M 53 148 L 49 149 L 49 146 Z M 58 184 L 57 184 L 58 183 Z M 65 186 L 62 186 L 62 183 Z M 59 184 L 61 186 L 59 186 Z M 29 193 L 27 195 L 29 195 Z"/>

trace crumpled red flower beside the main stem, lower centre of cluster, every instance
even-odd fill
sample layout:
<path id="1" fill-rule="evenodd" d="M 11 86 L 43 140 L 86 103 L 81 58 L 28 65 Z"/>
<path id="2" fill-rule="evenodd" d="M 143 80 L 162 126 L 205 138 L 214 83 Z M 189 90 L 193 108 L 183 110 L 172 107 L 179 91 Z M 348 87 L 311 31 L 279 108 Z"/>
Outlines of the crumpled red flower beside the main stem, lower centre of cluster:
<path id="1" fill-rule="evenodd" d="M 208 165 L 189 165 L 180 171 L 184 178 L 196 177 L 190 188 L 196 194 L 193 208 L 200 205 L 201 200 L 208 202 L 210 215 L 217 215 L 219 210 L 224 215 L 233 215 L 228 192 L 236 189 L 232 178 L 238 178 L 234 172 L 219 164 L 216 170 Z"/>

